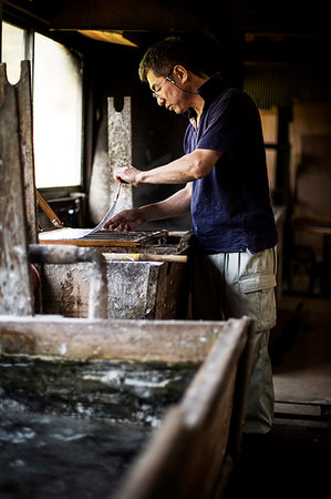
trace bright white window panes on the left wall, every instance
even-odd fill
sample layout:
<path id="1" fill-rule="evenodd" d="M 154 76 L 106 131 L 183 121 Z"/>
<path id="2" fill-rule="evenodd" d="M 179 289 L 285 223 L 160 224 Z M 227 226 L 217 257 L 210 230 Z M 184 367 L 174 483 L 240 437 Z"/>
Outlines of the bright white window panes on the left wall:
<path id="1" fill-rule="evenodd" d="M 27 32 L 2 23 L 2 61 L 10 83 L 20 79 Z M 34 33 L 33 144 L 35 184 L 79 186 L 82 160 L 81 60 L 64 45 Z"/>

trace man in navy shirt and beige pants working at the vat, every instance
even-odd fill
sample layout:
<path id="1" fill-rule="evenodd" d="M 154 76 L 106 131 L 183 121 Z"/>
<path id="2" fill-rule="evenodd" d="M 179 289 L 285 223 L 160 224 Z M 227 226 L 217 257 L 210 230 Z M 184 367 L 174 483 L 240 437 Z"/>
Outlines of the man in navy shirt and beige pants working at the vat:
<path id="1" fill-rule="evenodd" d="M 147 50 L 139 78 L 158 105 L 188 113 L 185 154 L 149 171 L 117 169 L 115 179 L 135 186 L 186 186 L 158 203 L 123 211 L 105 227 L 133 231 L 146 221 L 190 211 L 197 241 L 194 318 L 252 317 L 255 368 L 245 432 L 267 434 L 273 416 L 268 338 L 276 324 L 277 231 L 258 110 L 246 93 L 228 88 L 219 74 L 210 75 L 204 57 L 178 38 Z"/>

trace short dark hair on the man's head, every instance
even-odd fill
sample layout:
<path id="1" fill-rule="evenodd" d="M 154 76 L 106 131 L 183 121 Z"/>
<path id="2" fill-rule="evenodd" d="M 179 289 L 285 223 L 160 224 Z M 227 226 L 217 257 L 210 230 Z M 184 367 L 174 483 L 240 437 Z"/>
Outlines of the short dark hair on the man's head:
<path id="1" fill-rule="evenodd" d="M 215 52 L 210 47 L 201 42 L 198 37 L 183 39 L 179 37 L 168 37 L 152 45 L 144 54 L 138 74 L 143 82 L 147 81 L 149 70 L 156 77 L 167 77 L 172 68 L 176 64 L 184 65 L 187 70 L 201 77 L 211 75 L 216 72 L 210 64 L 210 59 L 215 58 Z M 214 64 L 215 65 L 215 59 Z"/>

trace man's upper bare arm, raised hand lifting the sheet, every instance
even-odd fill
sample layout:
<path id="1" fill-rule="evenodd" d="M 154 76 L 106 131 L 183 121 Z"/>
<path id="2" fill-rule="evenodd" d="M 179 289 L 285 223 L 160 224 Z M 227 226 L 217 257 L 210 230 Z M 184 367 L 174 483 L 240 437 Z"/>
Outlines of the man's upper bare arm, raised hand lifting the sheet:
<path id="1" fill-rule="evenodd" d="M 220 151 L 196 149 L 164 166 L 145 172 L 134 166 L 116 169 L 114 176 L 117 181 L 135 186 L 139 184 L 184 184 L 208 175 L 220 156 Z"/>

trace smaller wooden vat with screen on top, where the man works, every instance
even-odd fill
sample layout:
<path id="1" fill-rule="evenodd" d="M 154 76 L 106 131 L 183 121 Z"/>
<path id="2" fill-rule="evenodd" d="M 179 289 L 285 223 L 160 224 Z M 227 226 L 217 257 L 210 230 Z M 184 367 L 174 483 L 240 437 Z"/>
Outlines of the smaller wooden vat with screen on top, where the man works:
<path id="1" fill-rule="evenodd" d="M 65 230 L 64 230 L 65 231 Z M 106 261 L 107 310 L 112 319 L 180 319 L 188 301 L 187 253 L 190 233 L 110 233 L 108 240 L 63 240 L 63 231 L 40 234 L 41 243 L 91 245 Z M 58 234 L 58 235 L 56 235 Z M 96 244 L 96 246 L 95 246 Z M 43 313 L 87 317 L 93 266 L 42 266 Z"/>

